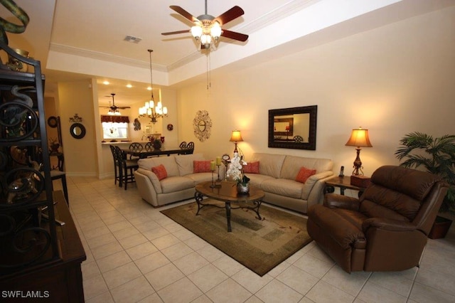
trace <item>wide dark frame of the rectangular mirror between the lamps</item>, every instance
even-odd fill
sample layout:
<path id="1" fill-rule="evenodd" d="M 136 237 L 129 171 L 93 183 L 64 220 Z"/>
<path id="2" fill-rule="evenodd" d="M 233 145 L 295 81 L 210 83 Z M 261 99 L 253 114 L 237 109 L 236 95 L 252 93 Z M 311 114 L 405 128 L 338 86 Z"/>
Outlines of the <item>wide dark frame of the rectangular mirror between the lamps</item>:
<path id="1" fill-rule="evenodd" d="M 274 120 L 277 116 L 294 114 L 310 114 L 309 119 L 309 142 L 275 142 L 274 141 Z M 316 150 L 316 125 L 318 106 L 289 107 L 278 110 L 269 110 L 269 147 L 280 149 L 309 149 Z"/>

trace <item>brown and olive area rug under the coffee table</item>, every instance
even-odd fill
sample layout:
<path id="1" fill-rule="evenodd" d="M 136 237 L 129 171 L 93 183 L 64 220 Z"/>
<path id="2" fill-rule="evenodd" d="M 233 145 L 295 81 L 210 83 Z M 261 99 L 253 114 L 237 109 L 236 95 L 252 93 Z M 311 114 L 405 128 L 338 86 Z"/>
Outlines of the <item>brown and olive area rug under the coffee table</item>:
<path id="1" fill-rule="evenodd" d="M 194 202 L 161 213 L 261 277 L 311 242 L 306 218 L 265 205 L 259 209 L 262 220 L 249 209 L 232 209 L 232 232 L 228 233 L 224 203 L 209 199 L 204 202 L 223 208 L 205 206 L 196 216 L 198 205 Z"/>

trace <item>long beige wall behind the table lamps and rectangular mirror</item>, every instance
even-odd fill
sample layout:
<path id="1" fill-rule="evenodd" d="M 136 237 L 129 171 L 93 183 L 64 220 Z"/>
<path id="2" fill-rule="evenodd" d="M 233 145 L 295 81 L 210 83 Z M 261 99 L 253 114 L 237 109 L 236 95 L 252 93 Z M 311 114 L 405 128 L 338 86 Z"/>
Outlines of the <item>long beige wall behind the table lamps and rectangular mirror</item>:
<path id="1" fill-rule="evenodd" d="M 240 47 L 240 46 L 239 46 Z M 235 73 L 211 74 L 211 88 L 198 83 L 178 90 L 178 137 L 195 141 L 213 159 L 232 154 L 233 129 L 248 158 L 254 151 L 333 159 L 350 174 L 355 148 L 350 131 L 370 130 L 373 148 L 360 154 L 365 175 L 398 164 L 394 152 L 410 132 L 434 136 L 455 131 L 455 9 L 376 28 Z M 316 151 L 269 149 L 268 110 L 318 105 Z M 210 139 L 193 135 L 193 118 L 208 110 Z"/>

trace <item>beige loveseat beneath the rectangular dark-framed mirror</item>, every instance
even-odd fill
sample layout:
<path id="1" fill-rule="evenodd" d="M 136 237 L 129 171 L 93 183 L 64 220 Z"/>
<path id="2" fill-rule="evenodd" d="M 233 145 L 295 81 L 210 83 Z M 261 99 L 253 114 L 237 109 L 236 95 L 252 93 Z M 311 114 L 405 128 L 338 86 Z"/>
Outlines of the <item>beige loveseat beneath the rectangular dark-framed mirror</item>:
<path id="1" fill-rule="evenodd" d="M 259 174 L 245 173 L 250 184 L 265 192 L 262 201 L 306 213 L 309 206 L 323 201 L 324 181 L 333 177 L 333 161 L 284 154 L 255 153 L 247 162 L 259 161 Z M 301 167 L 315 169 L 305 183 L 296 180 Z"/>

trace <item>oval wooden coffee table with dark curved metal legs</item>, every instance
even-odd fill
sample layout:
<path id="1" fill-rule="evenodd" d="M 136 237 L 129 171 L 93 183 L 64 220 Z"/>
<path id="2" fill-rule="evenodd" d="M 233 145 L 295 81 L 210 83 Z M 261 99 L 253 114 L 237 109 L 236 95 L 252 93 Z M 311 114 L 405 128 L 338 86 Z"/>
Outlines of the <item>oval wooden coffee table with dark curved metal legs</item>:
<path id="1" fill-rule="evenodd" d="M 198 216 L 199 211 L 204 206 L 215 206 L 218 208 L 223 208 L 222 206 L 218 206 L 215 204 L 210 203 L 203 203 L 203 197 L 206 196 L 208 198 L 213 198 L 218 201 L 223 201 L 225 203 L 226 208 L 226 219 L 228 220 L 228 232 L 232 231 L 230 225 L 230 210 L 238 209 L 238 208 L 248 208 L 252 211 L 255 211 L 257 214 L 257 218 L 262 220 L 261 215 L 259 215 L 259 207 L 261 207 L 262 198 L 264 198 L 265 193 L 261 189 L 250 186 L 250 193 L 247 194 L 239 194 L 237 193 L 237 186 L 235 182 L 231 181 L 222 181 L 220 187 L 212 188 L 210 187 L 212 182 L 201 182 L 200 184 L 196 185 L 196 193 L 194 193 L 194 198 L 196 199 L 196 203 L 198 203 L 198 212 L 196 216 Z M 235 202 L 238 206 L 232 207 L 231 202 Z M 245 205 L 242 205 L 245 204 Z M 252 206 L 248 206 L 247 204 L 251 204 Z"/>

